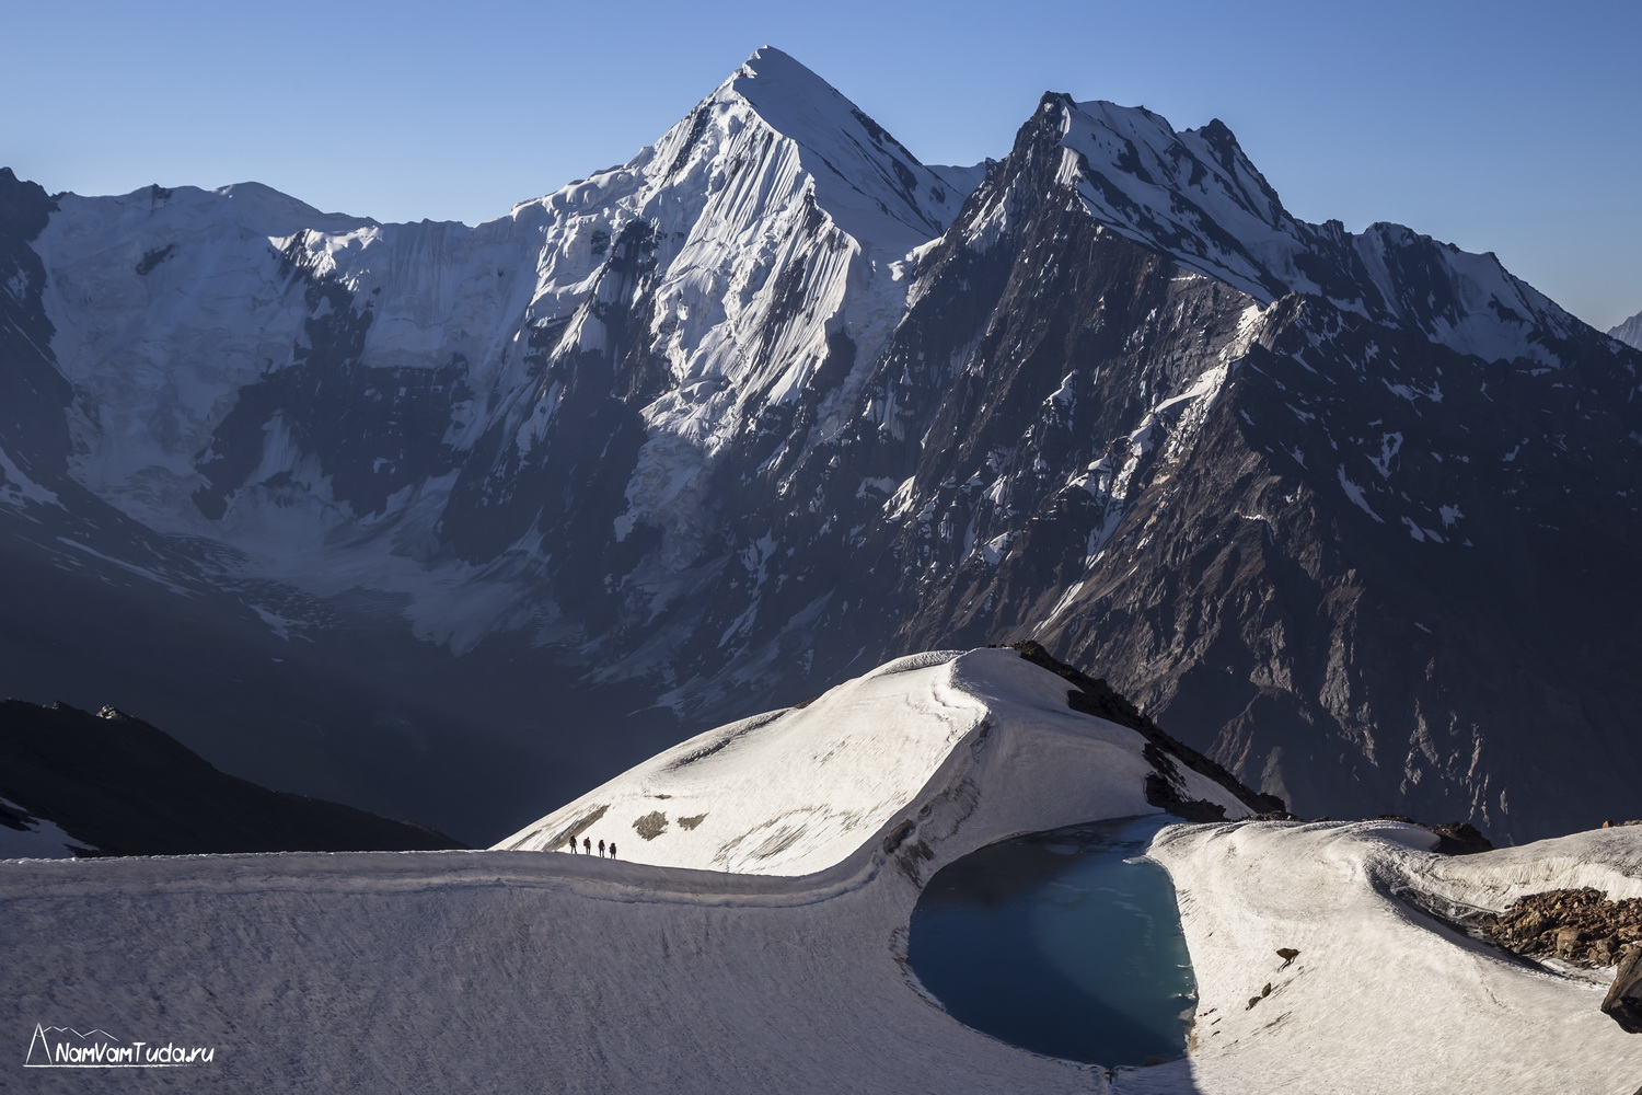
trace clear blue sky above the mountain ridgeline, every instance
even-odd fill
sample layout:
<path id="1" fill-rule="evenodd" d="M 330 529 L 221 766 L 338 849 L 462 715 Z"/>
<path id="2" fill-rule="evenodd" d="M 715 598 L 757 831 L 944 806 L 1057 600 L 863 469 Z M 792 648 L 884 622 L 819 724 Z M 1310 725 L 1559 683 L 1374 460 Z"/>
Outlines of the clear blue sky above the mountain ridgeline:
<path id="1" fill-rule="evenodd" d="M 255 179 L 378 220 L 499 217 L 621 163 L 760 44 L 929 163 L 1044 90 L 1218 117 L 1307 220 L 1494 251 L 1642 309 L 1642 5 L 1496 0 L 0 0 L 0 163 L 49 190 Z"/>

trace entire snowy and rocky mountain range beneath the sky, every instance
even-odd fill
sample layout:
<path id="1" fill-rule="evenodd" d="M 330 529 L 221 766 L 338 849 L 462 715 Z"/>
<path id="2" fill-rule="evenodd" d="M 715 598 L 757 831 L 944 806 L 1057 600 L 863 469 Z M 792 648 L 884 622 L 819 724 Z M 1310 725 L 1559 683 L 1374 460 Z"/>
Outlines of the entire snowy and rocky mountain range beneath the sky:
<path id="1" fill-rule="evenodd" d="M 0 690 L 264 783 L 491 842 L 1036 639 L 1302 814 L 1632 809 L 1642 351 L 1220 121 L 926 166 L 762 49 L 475 228 L 0 172 Z"/>

